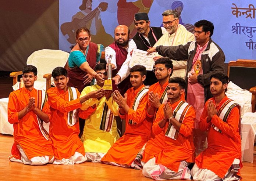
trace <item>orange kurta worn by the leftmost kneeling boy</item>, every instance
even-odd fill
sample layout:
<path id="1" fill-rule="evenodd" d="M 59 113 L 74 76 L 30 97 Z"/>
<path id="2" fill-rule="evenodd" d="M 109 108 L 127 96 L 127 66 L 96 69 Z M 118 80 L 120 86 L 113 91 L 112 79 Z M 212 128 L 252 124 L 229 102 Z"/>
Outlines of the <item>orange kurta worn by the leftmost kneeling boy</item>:
<path id="1" fill-rule="evenodd" d="M 21 154 L 17 148 L 18 144 L 29 159 L 35 156 L 54 155 L 51 141 L 46 140 L 39 129 L 36 114 L 33 111 L 29 111 L 21 119 L 18 119 L 18 112 L 28 105 L 31 97 L 35 98 L 35 104 L 37 105 L 38 90 L 35 88 L 32 91 L 27 90 L 25 87 L 20 88 L 9 95 L 8 122 L 13 124 L 14 128 L 14 144 L 11 153 L 17 159 L 21 159 Z M 46 104 L 42 111 L 50 117 L 49 110 L 49 105 Z"/>

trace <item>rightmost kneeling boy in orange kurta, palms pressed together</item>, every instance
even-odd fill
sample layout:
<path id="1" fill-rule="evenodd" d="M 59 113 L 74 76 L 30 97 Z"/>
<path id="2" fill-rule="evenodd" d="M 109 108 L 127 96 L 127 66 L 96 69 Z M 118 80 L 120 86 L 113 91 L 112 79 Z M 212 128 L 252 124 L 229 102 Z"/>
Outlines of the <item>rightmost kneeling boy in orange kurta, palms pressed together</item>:
<path id="1" fill-rule="evenodd" d="M 210 98 L 200 117 L 199 128 L 208 130 L 208 146 L 195 159 L 193 180 L 240 180 L 241 130 L 240 105 L 225 95 L 228 77 L 211 76 Z"/>

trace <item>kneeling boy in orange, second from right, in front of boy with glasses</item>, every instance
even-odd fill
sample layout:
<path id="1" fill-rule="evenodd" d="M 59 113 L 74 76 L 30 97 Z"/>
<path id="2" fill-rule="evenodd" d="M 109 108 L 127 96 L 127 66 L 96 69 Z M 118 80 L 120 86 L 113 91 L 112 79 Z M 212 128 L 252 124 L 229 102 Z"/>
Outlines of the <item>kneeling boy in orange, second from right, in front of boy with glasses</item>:
<path id="1" fill-rule="evenodd" d="M 185 80 L 174 77 L 168 84 L 168 102 L 161 105 L 153 122 L 152 132 L 163 132 L 164 149 L 143 166 L 142 173 L 154 180 L 190 180 L 188 165 L 193 162 L 193 128 L 195 111 L 191 105 L 182 101 Z M 161 144 L 161 143 L 159 143 Z"/>

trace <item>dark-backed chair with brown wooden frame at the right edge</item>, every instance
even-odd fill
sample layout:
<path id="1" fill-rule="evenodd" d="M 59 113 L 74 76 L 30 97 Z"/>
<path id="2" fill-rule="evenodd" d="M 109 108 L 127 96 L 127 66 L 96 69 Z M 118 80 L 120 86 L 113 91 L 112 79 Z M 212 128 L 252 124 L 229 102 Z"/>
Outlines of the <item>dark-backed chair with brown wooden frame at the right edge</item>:
<path id="1" fill-rule="evenodd" d="M 256 60 L 237 59 L 228 63 L 228 77 L 237 86 L 252 93 L 252 112 L 256 106 Z"/>

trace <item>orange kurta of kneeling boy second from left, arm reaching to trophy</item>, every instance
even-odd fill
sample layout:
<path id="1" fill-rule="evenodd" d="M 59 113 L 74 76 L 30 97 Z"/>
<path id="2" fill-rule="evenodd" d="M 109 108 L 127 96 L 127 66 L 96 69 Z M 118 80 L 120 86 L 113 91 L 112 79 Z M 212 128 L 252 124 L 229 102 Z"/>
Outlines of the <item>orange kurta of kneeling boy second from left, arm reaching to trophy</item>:
<path id="1" fill-rule="evenodd" d="M 80 93 L 77 91 L 77 97 Z M 68 159 L 75 152 L 85 155 L 83 143 L 79 139 L 79 122 L 74 126 L 68 126 L 68 112 L 80 108 L 82 105 L 78 99 L 68 101 L 68 90 L 59 90 L 56 87 L 47 91 L 48 101 L 51 107 L 51 119 L 49 134 L 53 142 L 53 151 L 56 159 Z"/>

